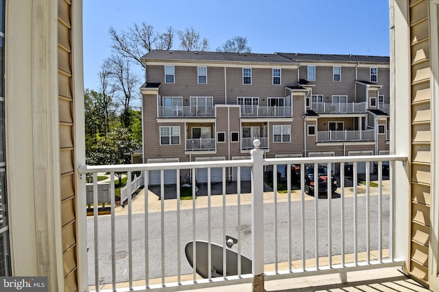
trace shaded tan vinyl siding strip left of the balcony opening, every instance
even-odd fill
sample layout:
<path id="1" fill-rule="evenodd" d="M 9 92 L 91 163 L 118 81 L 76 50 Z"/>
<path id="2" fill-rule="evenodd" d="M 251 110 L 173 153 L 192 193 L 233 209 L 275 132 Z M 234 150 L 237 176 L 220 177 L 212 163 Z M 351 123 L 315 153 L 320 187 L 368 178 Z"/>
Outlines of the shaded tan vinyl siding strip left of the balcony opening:
<path id="1" fill-rule="evenodd" d="M 73 71 L 71 64 L 71 1 L 58 0 L 58 96 L 60 181 L 62 208 L 62 262 L 65 291 L 78 290 L 76 262 L 75 137 L 73 135 Z"/>

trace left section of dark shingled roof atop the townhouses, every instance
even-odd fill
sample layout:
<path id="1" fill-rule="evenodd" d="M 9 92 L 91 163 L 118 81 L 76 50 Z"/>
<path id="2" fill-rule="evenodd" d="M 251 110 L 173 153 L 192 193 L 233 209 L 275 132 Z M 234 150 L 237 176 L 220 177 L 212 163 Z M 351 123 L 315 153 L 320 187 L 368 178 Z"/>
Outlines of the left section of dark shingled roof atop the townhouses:
<path id="1" fill-rule="evenodd" d="M 210 62 L 265 62 L 265 63 L 297 63 L 276 54 L 258 53 L 224 53 L 208 51 L 174 51 L 152 50 L 142 57 L 143 60 L 181 60 Z"/>

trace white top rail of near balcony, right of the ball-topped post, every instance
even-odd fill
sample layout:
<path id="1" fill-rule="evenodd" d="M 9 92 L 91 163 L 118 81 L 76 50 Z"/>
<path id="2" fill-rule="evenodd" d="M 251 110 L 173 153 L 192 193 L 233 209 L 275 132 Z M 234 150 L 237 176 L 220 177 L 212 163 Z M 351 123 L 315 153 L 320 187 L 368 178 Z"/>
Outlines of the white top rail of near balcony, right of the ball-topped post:
<path id="1" fill-rule="evenodd" d="M 363 161 L 406 161 L 403 155 L 361 155 L 361 156 L 336 156 L 336 157 L 285 157 L 267 158 L 263 165 L 273 164 L 302 164 L 302 163 L 338 163 L 338 162 L 363 162 Z"/>

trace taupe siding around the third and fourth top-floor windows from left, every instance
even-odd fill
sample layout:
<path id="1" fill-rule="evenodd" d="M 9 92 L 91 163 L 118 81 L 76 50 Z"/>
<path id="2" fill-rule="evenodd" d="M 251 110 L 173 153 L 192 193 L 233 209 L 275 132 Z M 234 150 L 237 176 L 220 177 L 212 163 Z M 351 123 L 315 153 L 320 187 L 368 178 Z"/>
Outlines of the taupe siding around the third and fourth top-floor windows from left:
<path id="1" fill-rule="evenodd" d="M 297 70 L 282 68 L 281 75 L 281 85 L 273 85 L 272 68 L 252 68 L 249 85 L 242 83 L 242 68 L 227 68 L 227 103 L 236 105 L 237 97 L 259 97 L 259 105 L 265 106 L 268 97 L 285 97 L 285 86 L 297 85 Z"/>

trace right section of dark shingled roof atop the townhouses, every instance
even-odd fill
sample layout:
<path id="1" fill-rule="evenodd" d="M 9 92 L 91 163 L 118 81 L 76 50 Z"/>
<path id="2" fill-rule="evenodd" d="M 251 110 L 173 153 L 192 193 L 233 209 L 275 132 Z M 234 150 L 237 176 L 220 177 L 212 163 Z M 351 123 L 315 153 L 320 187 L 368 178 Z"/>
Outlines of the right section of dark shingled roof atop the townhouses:
<path id="1" fill-rule="evenodd" d="M 329 54 L 304 54 L 304 53 L 276 53 L 297 62 L 361 62 L 361 63 L 383 63 L 389 64 L 390 57 L 367 56 L 367 55 L 329 55 Z"/>

